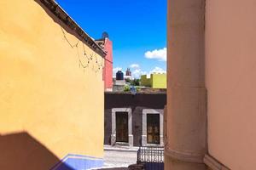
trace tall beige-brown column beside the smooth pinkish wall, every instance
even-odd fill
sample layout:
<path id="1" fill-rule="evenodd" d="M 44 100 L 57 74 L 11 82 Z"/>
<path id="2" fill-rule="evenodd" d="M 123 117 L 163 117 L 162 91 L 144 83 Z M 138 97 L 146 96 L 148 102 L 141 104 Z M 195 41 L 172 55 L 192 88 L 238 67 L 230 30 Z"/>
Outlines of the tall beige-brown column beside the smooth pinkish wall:
<path id="1" fill-rule="evenodd" d="M 205 0 L 168 0 L 166 170 L 206 169 Z"/>

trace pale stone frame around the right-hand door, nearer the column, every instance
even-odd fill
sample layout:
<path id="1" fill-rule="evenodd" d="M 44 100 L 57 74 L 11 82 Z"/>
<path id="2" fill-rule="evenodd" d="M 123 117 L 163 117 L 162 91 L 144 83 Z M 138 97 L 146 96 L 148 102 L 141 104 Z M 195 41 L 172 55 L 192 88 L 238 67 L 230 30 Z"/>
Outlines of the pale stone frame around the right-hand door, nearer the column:
<path id="1" fill-rule="evenodd" d="M 160 144 L 148 144 L 147 140 L 147 115 L 148 114 L 159 114 L 160 115 Z M 160 146 L 164 145 L 164 111 L 157 109 L 143 109 L 143 135 L 142 145 L 143 146 Z"/>

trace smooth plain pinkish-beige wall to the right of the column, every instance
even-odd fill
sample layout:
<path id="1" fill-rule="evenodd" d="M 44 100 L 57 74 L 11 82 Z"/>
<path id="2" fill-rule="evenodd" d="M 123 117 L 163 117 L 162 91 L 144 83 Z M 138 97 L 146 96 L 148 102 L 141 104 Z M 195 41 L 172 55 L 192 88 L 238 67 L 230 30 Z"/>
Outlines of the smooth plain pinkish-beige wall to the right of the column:
<path id="1" fill-rule="evenodd" d="M 207 1 L 209 154 L 232 170 L 255 169 L 256 1 Z"/>

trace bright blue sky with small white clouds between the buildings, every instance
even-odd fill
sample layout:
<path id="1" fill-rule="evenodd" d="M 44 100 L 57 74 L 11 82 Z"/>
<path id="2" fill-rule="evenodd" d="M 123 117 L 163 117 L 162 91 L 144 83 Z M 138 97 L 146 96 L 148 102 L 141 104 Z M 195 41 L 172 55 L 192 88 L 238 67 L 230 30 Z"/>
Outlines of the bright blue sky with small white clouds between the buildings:
<path id="1" fill-rule="evenodd" d="M 113 68 L 166 71 L 166 0 L 57 0 L 90 37 L 107 31 Z M 148 52 L 148 53 L 147 53 Z"/>

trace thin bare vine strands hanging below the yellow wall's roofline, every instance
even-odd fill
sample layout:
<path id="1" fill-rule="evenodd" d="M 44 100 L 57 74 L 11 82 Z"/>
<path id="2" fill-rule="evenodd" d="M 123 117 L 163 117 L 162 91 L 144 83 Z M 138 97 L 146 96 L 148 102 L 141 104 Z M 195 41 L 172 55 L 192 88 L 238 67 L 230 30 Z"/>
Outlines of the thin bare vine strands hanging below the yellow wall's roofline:
<path id="1" fill-rule="evenodd" d="M 102 58 L 98 59 L 95 52 L 89 54 L 89 52 L 87 52 L 84 48 L 84 42 L 78 41 L 78 42 L 72 44 L 67 39 L 67 35 L 62 27 L 61 27 L 61 32 L 63 34 L 64 39 L 69 44 L 69 46 L 71 48 L 76 48 L 78 59 L 79 59 L 79 67 L 82 67 L 85 70 L 86 68 L 89 68 L 91 65 L 92 71 L 95 71 L 96 73 L 103 70 L 103 59 Z M 79 43 L 82 43 L 83 53 L 79 52 Z M 82 54 L 83 54 L 83 56 L 82 56 Z"/>

